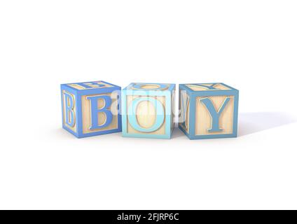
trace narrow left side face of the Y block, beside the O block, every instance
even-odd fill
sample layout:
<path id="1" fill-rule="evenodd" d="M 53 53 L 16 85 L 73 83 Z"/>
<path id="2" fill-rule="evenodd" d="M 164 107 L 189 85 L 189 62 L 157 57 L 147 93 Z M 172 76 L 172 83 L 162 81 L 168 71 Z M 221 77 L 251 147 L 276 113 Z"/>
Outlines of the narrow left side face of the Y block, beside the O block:
<path id="1" fill-rule="evenodd" d="M 183 88 L 179 89 L 179 127 L 190 133 L 190 95 Z"/>

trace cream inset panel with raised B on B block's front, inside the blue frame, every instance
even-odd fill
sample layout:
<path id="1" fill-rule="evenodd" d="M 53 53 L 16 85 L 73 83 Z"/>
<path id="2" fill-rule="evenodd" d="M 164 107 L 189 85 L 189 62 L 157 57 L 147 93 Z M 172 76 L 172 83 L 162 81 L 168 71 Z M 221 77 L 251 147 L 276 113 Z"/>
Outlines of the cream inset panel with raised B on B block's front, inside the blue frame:
<path id="1" fill-rule="evenodd" d="M 106 94 L 81 96 L 83 134 L 118 129 L 118 97 Z"/>

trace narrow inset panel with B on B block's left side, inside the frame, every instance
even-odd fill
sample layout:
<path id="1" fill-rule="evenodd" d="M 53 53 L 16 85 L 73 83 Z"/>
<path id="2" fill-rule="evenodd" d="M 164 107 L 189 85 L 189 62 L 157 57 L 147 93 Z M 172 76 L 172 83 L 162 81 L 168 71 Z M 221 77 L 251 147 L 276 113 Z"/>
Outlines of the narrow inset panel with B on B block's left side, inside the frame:
<path id="1" fill-rule="evenodd" d="M 66 90 L 62 90 L 62 122 L 64 127 L 77 132 L 76 96 Z"/>

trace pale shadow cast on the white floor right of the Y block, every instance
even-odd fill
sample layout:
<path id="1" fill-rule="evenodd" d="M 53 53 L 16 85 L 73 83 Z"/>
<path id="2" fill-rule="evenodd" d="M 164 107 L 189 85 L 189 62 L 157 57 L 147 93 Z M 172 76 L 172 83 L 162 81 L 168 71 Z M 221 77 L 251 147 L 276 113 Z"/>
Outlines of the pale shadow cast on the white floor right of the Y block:
<path id="1" fill-rule="evenodd" d="M 238 137 L 296 123 L 297 119 L 281 112 L 240 113 Z"/>

